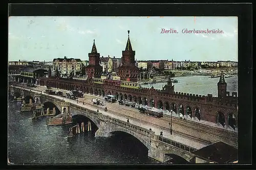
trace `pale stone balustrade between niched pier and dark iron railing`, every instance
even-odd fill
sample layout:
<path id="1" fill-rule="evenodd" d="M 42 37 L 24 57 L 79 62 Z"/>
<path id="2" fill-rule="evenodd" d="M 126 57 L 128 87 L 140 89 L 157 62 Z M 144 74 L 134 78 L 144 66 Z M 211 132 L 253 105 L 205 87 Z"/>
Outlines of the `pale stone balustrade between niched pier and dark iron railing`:
<path id="1" fill-rule="evenodd" d="M 96 111 L 93 111 L 93 110 L 90 110 L 90 109 L 87 109 L 87 108 L 83 108 L 83 107 L 77 106 L 77 105 L 72 104 L 72 103 L 70 103 L 70 106 L 73 109 L 76 109 L 76 110 L 79 110 L 79 111 L 83 111 L 83 112 L 87 112 L 89 114 L 93 114 L 94 116 L 96 116 L 97 118 L 99 118 L 99 119 L 101 119 L 103 121 L 108 121 L 108 122 L 111 122 L 111 123 L 116 124 L 118 126 L 125 127 L 127 129 L 132 129 L 134 131 L 137 131 L 138 133 L 144 134 L 144 135 L 149 136 L 149 137 L 152 134 L 155 133 L 154 131 L 151 131 L 151 130 L 148 130 L 148 129 L 145 129 L 145 128 L 141 128 L 141 127 L 136 126 L 136 125 L 132 125 L 132 124 L 124 122 L 122 120 L 113 118 L 113 117 L 108 116 L 108 115 L 103 115 L 100 112 L 96 112 Z"/>

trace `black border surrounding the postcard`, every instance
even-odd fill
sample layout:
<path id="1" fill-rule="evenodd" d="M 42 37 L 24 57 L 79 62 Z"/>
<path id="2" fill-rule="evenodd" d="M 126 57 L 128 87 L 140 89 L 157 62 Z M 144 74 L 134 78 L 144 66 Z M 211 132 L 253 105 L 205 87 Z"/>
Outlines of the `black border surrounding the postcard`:
<path id="1" fill-rule="evenodd" d="M 239 164 L 252 163 L 252 4 L 8 4 L 8 7 L 7 16 L 238 16 Z M 6 91 L 6 86 L 3 87 L 3 91 Z M 4 93 L 0 95 L 4 98 L 7 96 Z M 3 128 L 7 128 L 7 125 Z M 1 138 L 7 141 L 7 136 L 2 135 Z M 1 159 L 2 163 L 7 164 L 6 157 Z M 189 167 L 186 165 L 8 165 L 7 168 L 50 169 L 56 167 L 61 169 L 231 169 L 245 168 L 245 165 L 211 164 L 210 166 L 189 165 Z"/>

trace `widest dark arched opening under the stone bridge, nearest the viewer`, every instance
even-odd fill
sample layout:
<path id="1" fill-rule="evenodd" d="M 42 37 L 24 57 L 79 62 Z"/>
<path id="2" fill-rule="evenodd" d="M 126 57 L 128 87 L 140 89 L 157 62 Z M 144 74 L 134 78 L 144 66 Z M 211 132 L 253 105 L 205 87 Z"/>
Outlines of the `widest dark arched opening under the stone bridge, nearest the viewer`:
<path id="1" fill-rule="evenodd" d="M 138 159 L 148 159 L 148 149 L 139 139 L 129 133 L 122 131 L 114 131 L 111 132 L 111 134 L 112 136 L 109 138 L 109 143 L 111 143 L 110 148 L 116 150 L 116 146 L 118 145 L 119 151 L 117 152 L 123 153 L 123 157 L 127 157 L 127 155 L 132 155 L 133 157 L 137 157 Z"/>

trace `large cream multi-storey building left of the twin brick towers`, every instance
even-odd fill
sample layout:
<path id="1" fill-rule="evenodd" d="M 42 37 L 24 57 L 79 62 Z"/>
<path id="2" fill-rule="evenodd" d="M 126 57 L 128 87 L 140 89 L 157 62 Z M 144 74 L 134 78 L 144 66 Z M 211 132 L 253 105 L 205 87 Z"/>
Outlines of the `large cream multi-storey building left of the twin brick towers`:
<path id="1" fill-rule="evenodd" d="M 74 58 L 56 58 L 53 59 L 52 70 L 56 70 L 58 68 L 60 77 L 68 77 L 71 72 L 77 74 L 81 72 L 82 69 L 82 61 L 80 59 Z"/>

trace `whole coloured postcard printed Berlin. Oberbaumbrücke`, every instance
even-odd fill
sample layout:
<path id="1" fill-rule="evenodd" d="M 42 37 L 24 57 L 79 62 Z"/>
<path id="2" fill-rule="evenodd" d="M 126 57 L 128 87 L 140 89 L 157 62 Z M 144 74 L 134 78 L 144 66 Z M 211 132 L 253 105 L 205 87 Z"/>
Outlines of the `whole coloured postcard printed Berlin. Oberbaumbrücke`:
<path id="1" fill-rule="evenodd" d="M 9 164 L 238 160 L 238 17 L 10 16 Z"/>

